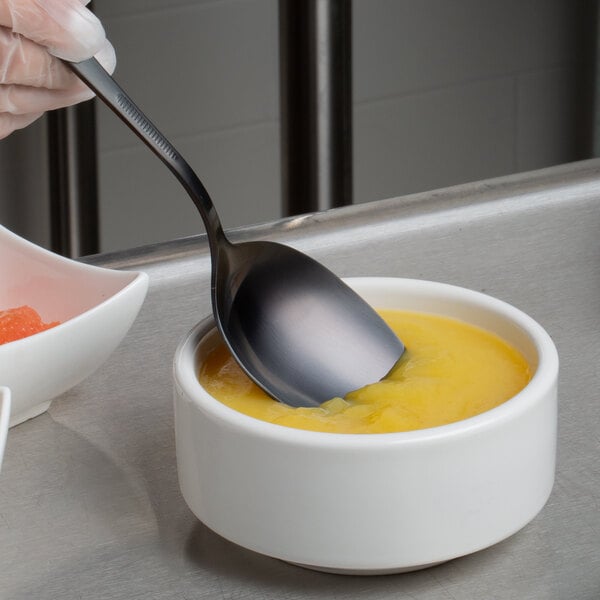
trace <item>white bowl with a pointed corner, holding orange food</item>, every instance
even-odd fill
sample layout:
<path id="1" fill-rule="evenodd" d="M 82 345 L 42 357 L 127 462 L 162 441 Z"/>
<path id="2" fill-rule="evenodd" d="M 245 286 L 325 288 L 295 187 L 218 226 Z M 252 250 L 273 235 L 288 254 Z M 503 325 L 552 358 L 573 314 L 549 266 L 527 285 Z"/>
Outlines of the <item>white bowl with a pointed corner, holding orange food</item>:
<path id="1" fill-rule="evenodd" d="M 93 373 L 123 339 L 148 289 L 145 273 L 86 265 L 0 226 L 0 310 L 33 307 L 61 324 L 0 345 L 0 385 L 12 391 L 11 426 L 45 411 Z"/>

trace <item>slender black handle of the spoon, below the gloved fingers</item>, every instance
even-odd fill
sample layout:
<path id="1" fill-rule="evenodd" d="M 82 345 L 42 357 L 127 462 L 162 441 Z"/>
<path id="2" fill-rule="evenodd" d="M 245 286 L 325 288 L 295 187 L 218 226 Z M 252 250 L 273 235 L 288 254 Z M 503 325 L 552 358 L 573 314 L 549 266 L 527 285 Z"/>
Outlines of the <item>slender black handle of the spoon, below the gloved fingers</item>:
<path id="1" fill-rule="evenodd" d="M 211 250 L 226 242 L 223 227 L 208 192 L 190 165 L 138 108 L 102 65 L 90 58 L 65 63 L 160 158 L 186 189 L 202 216 Z"/>

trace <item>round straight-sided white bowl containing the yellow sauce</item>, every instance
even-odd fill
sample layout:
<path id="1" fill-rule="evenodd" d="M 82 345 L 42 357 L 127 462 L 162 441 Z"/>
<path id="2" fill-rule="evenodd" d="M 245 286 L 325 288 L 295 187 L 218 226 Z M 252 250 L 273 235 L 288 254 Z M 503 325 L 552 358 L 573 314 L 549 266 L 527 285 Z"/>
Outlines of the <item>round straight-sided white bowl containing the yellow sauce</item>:
<path id="1" fill-rule="evenodd" d="M 526 525 L 554 482 L 558 356 L 518 309 L 442 283 L 347 282 L 378 308 L 462 319 L 517 347 L 530 383 L 449 425 L 332 434 L 266 423 L 223 405 L 197 379 L 218 343 L 210 318 L 174 362 L 177 466 L 195 515 L 256 552 L 340 573 L 414 570 L 486 548 Z"/>

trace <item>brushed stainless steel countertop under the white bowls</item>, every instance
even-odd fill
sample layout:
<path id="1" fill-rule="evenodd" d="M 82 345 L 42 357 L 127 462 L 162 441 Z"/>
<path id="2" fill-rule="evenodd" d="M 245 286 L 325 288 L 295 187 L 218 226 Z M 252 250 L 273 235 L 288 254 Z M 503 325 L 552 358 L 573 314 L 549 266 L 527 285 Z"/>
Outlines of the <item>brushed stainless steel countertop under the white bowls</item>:
<path id="1" fill-rule="evenodd" d="M 171 360 L 210 310 L 204 236 L 90 258 L 147 271 L 150 290 L 108 362 L 10 431 L 0 475 L 0 598 L 598 600 L 599 234 L 596 160 L 232 232 L 287 242 L 340 275 L 483 290 L 532 315 L 558 346 L 557 478 L 540 515 L 487 550 L 378 577 L 316 573 L 254 554 L 209 531 L 184 503 Z"/>

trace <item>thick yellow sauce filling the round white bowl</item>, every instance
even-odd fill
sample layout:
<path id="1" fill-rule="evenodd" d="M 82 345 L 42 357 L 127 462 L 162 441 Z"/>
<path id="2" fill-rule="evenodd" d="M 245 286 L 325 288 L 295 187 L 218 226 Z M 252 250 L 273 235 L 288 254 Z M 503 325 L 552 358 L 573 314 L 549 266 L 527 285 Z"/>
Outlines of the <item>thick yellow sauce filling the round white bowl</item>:
<path id="1" fill-rule="evenodd" d="M 379 311 L 406 345 L 383 380 L 315 408 L 270 398 L 224 345 L 201 365 L 199 379 L 217 400 L 270 423 L 335 433 L 387 433 L 445 425 L 502 404 L 531 379 L 525 358 L 494 334 L 462 321 Z"/>

